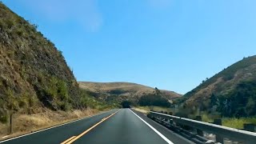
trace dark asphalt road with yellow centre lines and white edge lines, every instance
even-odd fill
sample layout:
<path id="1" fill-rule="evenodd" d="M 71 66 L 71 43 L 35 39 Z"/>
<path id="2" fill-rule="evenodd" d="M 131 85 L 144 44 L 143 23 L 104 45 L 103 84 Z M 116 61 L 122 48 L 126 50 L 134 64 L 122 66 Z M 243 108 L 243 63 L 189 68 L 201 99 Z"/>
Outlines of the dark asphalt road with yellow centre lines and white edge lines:
<path id="1" fill-rule="evenodd" d="M 63 126 L 3 141 L 2 143 L 50 144 L 62 142 L 66 144 L 192 143 L 150 120 L 144 114 L 130 109 L 111 110 Z"/>

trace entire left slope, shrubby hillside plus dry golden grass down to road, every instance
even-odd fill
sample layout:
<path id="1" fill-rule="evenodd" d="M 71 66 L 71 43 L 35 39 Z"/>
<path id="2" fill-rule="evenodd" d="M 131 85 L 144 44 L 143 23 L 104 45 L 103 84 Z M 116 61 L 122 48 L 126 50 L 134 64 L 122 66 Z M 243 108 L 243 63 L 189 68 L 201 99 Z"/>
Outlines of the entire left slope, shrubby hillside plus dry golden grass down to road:
<path id="1" fill-rule="evenodd" d="M 91 107 L 92 109 L 90 109 Z M 24 18 L 0 2 L 0 136 L 113 108 L 81 90 L 62 52 Z"/>

